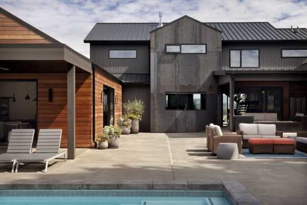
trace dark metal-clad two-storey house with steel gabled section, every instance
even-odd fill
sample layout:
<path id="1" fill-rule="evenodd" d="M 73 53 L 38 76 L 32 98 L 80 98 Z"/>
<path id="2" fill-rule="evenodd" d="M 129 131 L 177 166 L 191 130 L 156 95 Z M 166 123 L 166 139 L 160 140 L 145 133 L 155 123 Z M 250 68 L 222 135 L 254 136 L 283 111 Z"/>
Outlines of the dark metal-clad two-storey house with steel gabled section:
<path id="1" fill-rule="evenodd" d="M 211 122 L 233 130 L 233 116 L 244 113 L 307 114 L 305 28 L 182 16 L 163 26 L 97 23 L 84 43 L 123 81 L 124 102 L 145 102 L 144 132 L 201 132 Z"/>

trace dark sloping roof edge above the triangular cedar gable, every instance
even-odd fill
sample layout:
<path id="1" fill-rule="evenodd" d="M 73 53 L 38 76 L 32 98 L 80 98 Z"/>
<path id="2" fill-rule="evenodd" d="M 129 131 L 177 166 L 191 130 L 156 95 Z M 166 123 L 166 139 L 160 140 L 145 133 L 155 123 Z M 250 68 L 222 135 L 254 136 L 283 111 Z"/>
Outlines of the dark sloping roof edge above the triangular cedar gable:
<path id="1" fill-rule="evenodd" d="M 52 44 L 61 44 L 61 42 L 59 42 L 58 40 L 54 39 L 53 37 L 47 35 L 46 33 L 42 32 L 42 31 L 36 29 L 35 27 L 31 26 L 30 24 L 28 24 L 24 20 L 21 20 L 17 16 L 11 14 L 7 10 L 3 9 L 2 7 L 0 7 L 0 14 L 7 16 L 8 18 L 14 20 L 17 24 L 24 26 L 27 29 L 29 29 L 30 31 L 33 31 L 34 33 L 40 35 L 41 37 L 45 38 L 46 40 L 48 40 Z"/>

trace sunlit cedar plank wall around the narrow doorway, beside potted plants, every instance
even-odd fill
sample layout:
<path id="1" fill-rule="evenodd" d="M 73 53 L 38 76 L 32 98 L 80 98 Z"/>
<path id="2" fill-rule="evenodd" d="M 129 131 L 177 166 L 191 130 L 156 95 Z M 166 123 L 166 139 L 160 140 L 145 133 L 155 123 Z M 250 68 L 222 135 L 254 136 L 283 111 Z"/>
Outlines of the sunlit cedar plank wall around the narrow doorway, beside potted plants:
<path id="1" fill-rule="evenodd" d="M 101 102 L 101 92 L 103 85 L 114 88 L 114 95 L 118 97 L 118 102 L 114 106 L 115 124 L 122 116 L 122 86 L 117 82 L 105 77 L 98 69 L 95 70 L 95 133 L 102 134 L 103 129 L 103 102 Z M 115 103 L 115 100 L 114 100 Z"/>

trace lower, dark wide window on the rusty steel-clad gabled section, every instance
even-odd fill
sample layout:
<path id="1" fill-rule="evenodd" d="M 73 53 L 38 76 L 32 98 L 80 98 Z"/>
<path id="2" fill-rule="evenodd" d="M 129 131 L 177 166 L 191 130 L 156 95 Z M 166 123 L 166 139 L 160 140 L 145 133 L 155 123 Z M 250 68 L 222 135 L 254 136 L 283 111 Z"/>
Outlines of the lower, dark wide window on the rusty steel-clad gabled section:
<path id="1" fill-rule="evenodd" d="M 205 110 L 205 93 L 166 93 L 166 110 Z"/>

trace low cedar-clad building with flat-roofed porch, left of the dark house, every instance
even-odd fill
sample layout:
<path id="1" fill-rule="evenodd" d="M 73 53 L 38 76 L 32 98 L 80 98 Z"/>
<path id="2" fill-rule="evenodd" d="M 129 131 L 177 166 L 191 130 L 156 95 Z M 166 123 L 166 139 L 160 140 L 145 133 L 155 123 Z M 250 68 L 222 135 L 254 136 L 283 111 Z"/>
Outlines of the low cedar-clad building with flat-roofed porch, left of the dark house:
<path id="1" fill-rule="evenodd" d="M 61 128 L 68 158 L 122 116 L 123 82 L 0 8 L 0 121 Z M 7 136 L 0 138 L 7 142 Z"/>

